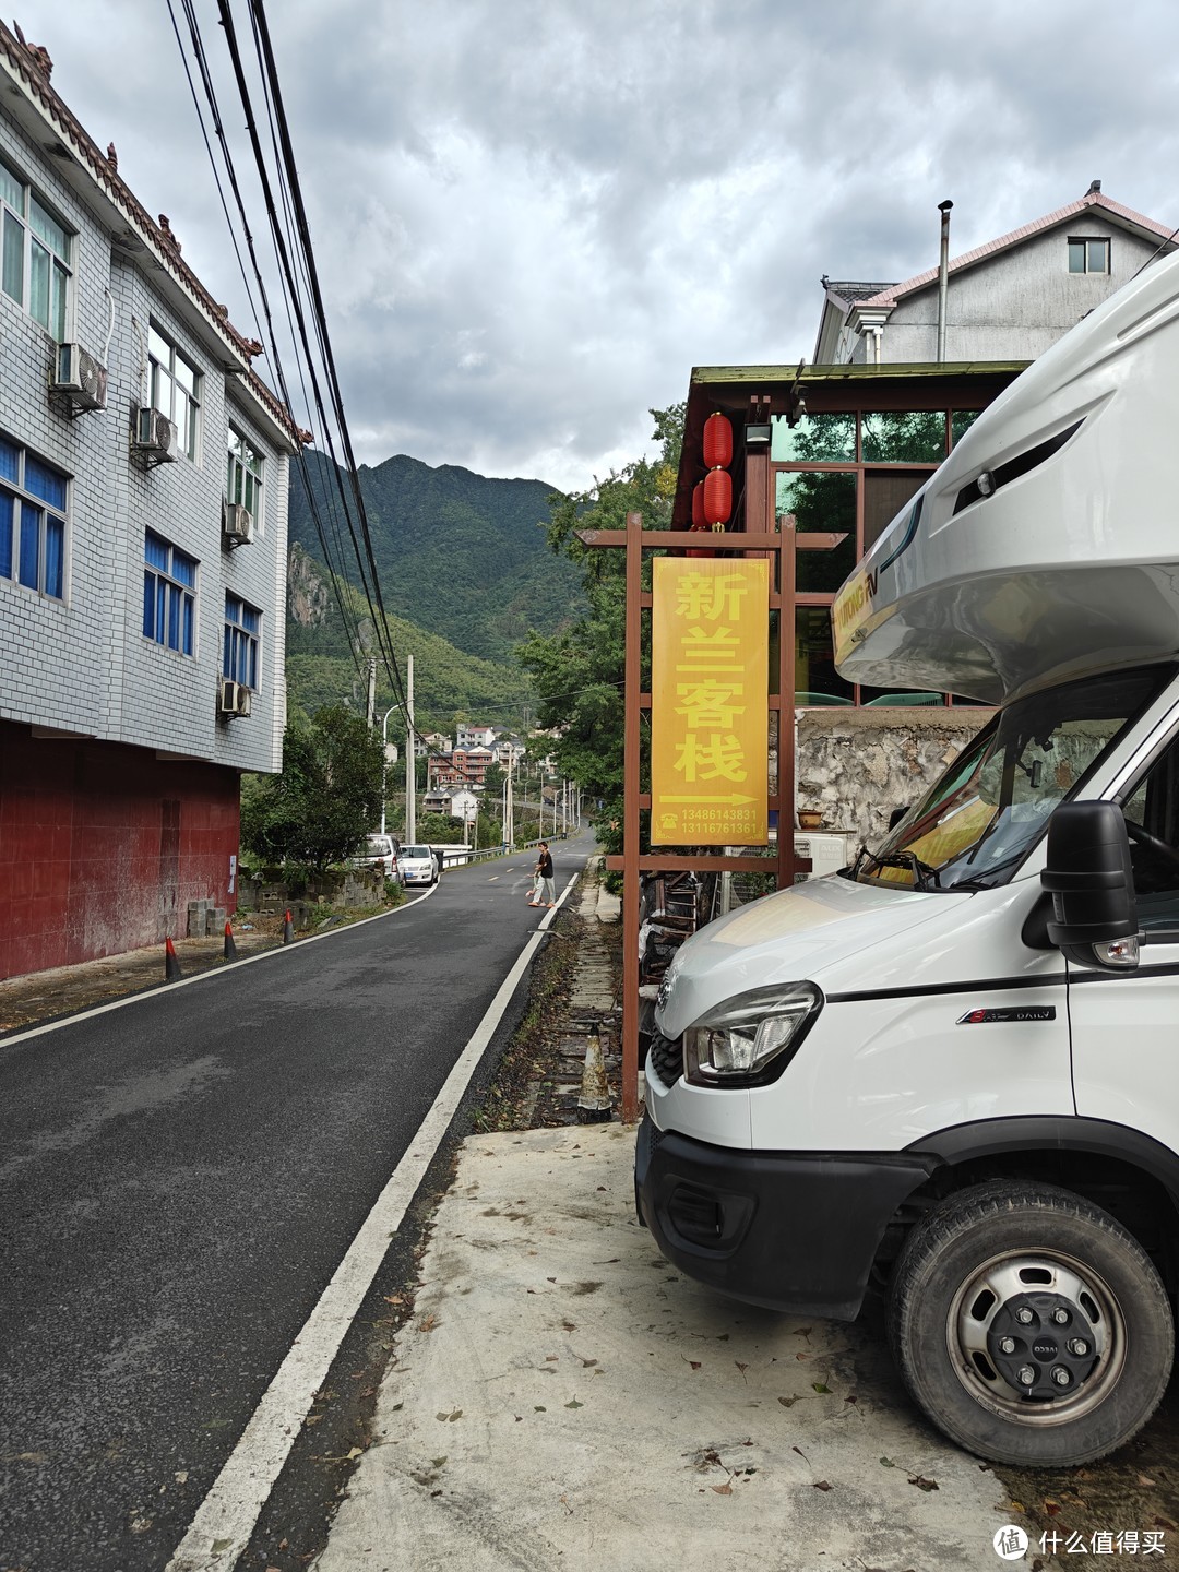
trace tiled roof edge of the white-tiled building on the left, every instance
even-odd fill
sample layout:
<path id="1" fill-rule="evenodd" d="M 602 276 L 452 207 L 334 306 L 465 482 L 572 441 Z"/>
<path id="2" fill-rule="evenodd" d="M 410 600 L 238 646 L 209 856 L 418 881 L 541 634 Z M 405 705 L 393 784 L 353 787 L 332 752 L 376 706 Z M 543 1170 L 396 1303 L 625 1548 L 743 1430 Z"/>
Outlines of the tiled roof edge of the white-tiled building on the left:
<path id="1" fill-rule="evenodd" d="M 266 406 L 272 418 L 288 432 L 292 443 L 311 440 L 308 432 L 300 432 L 291 418 L 291 412 L 280 402 L 274 391 L 253 371 L 250 362 L 261 354 L 263 346 L 256 340 L 245 338 L 228 319 L 226 310 L 212 299 L 196 274 L 181 258 L 181 248 L 167 228 L 167 220 L 157 223 L 130 187 L 118 174 L 118 162 L 107 152 L 99 151 L 97 143 L 88 135 L 75 115 L 66 107 L 63 99 L 49 85 L 53 63 L 44 49 L 22 42 L 0 22 L 0 60 L 6 61 L 13 74 L 20 80 L 27 97 L 39 104 L 41 110 L 55 124 L 61 137 L 77 154 L 79 163 L 110 201 L 129 222 L 137 237 L 146 244 L 156 261 L 184 289 L 184 292 L 201 308 L 209 325 L 225 340 L 226 344 L 245 363 L 244 380 L 255 398 Z M 113 149 L 112 149 L 113 152 Z"/>

